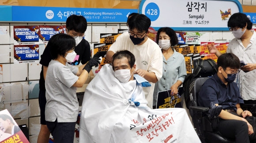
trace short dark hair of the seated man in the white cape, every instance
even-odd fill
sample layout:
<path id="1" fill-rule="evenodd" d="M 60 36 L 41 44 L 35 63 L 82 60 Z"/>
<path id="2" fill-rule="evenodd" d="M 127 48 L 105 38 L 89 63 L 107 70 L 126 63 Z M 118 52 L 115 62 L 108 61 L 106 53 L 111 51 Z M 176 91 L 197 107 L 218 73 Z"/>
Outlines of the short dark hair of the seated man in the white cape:
<path id="1" fill-rule="evenodd" d="M 113 54 L 113 57 L 112 57 L 113 71 L 115 70 L 114 65 L 113 65 L 114 61 L 117 60 L 117 59 L 122 59 L 124 57 L 126 57 L 128 59 L 128 63 L 130 64 L 131 68 L 133 67 L 133 65 L 135 64 L 134 55 L 128 50 L 120 50 L 120 51 L 117 51 L 115 54 Z"/>

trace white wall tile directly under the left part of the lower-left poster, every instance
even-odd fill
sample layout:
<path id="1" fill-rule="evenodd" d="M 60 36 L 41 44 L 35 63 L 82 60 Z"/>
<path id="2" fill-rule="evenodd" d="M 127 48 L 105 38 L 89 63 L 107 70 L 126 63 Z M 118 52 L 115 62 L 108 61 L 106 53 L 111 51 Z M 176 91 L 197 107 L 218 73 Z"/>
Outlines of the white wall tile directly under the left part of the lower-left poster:
<path id="1" fill-rule="evenodd" d="M 11 64 L 11 82 L 27 80 L 27 64 Z"/>

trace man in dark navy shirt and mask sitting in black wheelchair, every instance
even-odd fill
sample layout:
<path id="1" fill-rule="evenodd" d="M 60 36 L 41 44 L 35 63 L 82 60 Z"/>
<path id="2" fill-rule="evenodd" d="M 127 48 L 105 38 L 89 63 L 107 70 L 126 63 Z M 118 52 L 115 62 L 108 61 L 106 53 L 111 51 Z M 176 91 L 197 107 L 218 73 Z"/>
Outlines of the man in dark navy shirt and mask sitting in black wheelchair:
<path id="1" fill-rule="evenodd" d="M 225 53 L 218 57 L 217 63 L 218 72 L 204 82 L 198 95 L 198 104 L 210 107 L 213 102 L 216 106 L 222 106 L 217 118 L 218 125 L 213 127 L 222 136 L 235 139 L 236 143 L 254 143 L 255 118 L 250 111 L 241 109 L 240 104 L 244 101 L 237 84 L 233 82 L 240 72 L 240 60 L 232 53 Z"/>

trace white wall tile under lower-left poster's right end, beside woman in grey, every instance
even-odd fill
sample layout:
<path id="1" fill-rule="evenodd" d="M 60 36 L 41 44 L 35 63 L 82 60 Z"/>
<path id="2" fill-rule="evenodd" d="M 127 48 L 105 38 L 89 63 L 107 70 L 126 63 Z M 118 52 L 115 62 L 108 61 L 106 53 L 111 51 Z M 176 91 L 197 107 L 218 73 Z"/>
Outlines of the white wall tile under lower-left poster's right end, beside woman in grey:
<path id="1" fill-rule="evenodd" d="M 39 80 L 42 65 L 39 63 L 28 64 L 28 80 Z"/>

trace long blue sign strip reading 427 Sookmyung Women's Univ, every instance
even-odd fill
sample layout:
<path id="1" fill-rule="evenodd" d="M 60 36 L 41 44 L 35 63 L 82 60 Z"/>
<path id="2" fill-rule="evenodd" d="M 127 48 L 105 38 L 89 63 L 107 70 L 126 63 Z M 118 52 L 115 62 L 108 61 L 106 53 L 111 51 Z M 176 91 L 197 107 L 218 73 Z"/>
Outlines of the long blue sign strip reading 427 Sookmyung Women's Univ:
<path id="1" fill-rule="evenodd" d="M 0 21 L 66 22 L 72 15 L 82 15 L 87 22 L 126 22 L 138 9 L 0 6 Z"/>

